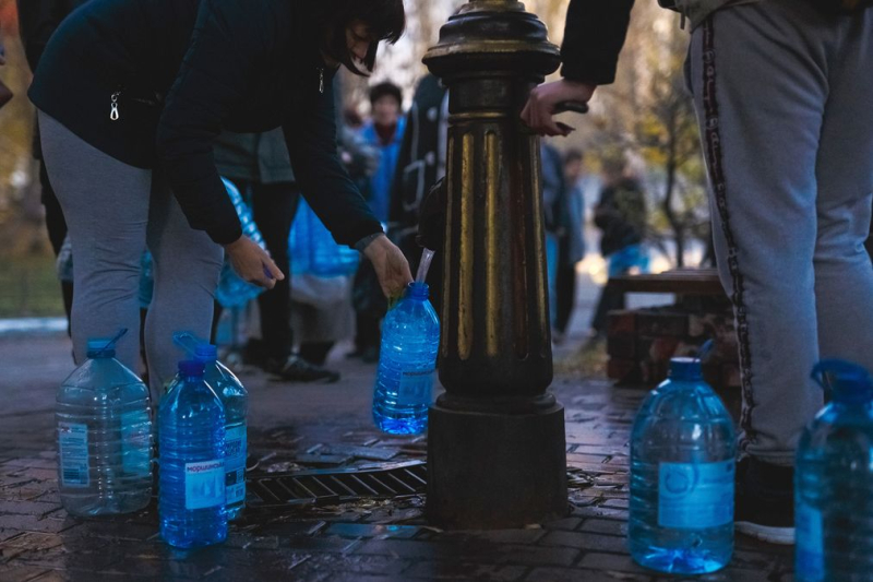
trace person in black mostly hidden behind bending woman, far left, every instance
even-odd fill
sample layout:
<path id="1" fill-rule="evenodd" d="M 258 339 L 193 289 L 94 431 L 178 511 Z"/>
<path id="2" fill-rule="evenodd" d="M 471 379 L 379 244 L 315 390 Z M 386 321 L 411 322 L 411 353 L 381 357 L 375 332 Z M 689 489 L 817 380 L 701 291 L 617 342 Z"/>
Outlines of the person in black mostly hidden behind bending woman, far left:
<path id="1" fill-rule="evenodd" d="M 32 71 L 36 71 L 39 59 L 48 44 L 48 39 L 73 10 L 86 0 L 17 0 L 19 27 L 24 44 L 24 54 Z M 43 149 L 39 144 L 39 123 L 35 124 L 34 159 L 39 161 L 39 187 L 43 206 L 46 209 L 46 229 L 51 242 L 51 250 L 57 258 L 67 238 L 67 221 L 63 217 L 60 202 L 48 179 L 46 165 L 43 162 Z M 70 311 L 73 308 L 73 282 L 61 280 L 63 310 L 67 313 L 67 333 L 70 333 Z"/>

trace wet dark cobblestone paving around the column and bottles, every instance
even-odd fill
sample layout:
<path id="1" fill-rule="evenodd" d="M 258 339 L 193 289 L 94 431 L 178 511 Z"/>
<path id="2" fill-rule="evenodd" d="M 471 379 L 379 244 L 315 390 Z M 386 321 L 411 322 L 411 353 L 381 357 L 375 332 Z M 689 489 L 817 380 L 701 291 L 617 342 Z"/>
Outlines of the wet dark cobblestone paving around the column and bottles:
<path id="1" fill-rule="evenodd" d="M 247 375 L 250 450 L 258 473 L 294 470 L 307 454 L 348 444 L 422 459 L 422 439 L 385 439 L 371 426 L 373 368 L 337 359 L 343 381 L 270 382 Z M 627 439 L 641 390 L 558 376 L 566 407 L 571 510 L 524 530 L 441 532 L 423 499 L 310 507 L 252 515 L 224 545 L 176 551 L 152 507 L 110 521 L 79 521 L 60 507 L 53 394 L 70 370 L 57 336 L 0 340 L 0 580 L 638 581 L 669 578 L 636 567 L 625 548 Z M 363 461 L 350 461 L 362 463 Z M 523 502 L 523 500 L 519 500 Z M 675 580 L 675 579 L 674 579 Z M 788 582 L 791 551 L 739 537 L 732 565 L 706 581 Z"/>

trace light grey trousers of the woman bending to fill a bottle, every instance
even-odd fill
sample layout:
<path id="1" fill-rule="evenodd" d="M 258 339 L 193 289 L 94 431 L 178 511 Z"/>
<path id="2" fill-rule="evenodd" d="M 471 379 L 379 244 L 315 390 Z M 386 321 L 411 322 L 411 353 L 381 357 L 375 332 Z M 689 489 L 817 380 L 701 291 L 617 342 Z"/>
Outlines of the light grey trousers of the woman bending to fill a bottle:
<path id="1" fill-rule="evenodd" d="M 155 290 L 145 322 L 145 354 L 152 394 L 159 397 L 181 359 L 172 334 L 188 330 L 210 335 L 223 250 L 188 225 L 158 173 L 115 159 L 41 111 L 39 129 L 46 169 L 75 253 L 75 360 L 85 359 L 89 337 L 128 328 L 117 357 L 139 371 L 140 259 L 147 245 Z"/>

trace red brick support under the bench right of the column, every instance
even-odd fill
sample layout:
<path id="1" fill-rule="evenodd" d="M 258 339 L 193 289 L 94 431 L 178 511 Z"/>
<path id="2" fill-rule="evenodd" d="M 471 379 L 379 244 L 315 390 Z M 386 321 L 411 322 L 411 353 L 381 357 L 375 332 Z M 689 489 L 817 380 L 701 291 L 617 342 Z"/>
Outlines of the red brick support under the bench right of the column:
<path id="1" fill-rule="evenodd" d="M 705 310 L 681 305 L 612 311 L 608 319 L 609 378 L 655 385 L 667 378 L 672 357 L 694 357 L 707 340 L 715 346 L 703 363 L 705 380 L 716 389 L 740 385 L 733 314 L 729 306 Z"/>

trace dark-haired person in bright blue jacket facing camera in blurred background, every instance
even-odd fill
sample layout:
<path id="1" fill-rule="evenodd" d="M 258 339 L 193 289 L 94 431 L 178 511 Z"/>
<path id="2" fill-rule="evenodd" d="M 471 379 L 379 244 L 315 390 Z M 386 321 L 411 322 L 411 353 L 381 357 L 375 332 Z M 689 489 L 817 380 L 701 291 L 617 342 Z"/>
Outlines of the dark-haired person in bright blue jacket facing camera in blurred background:
<path id="1" fill-rule="evenodd" d="M 370 90 L 370 106 L 371 119 L 361 130 L 361 136 L 364 142 L 379 151 L 380 161 L 379 169 L 370 178 L 369 204 L 375 217 L 382 224 L 387 224 L 391 187 L 406 127 L 406 119 L 400 115 L 403 112 L 400 87 L 390 82 L 373 85 Z M 387 309 L 373 275 L 372 265 L 368 261 L 361 261 L 352 292 L 357 333 L 355 352 L 350 355 L 360 356 L 368 364 L 379 361 L 382 336 L 379 328 Z"/>

